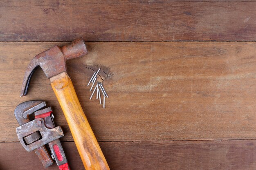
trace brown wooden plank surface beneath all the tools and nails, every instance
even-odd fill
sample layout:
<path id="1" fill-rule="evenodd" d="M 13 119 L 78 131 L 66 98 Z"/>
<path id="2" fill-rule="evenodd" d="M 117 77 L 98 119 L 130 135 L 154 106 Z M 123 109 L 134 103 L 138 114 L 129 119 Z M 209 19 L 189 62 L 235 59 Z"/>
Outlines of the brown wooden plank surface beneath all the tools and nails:
<path id="1" fill-rule="evenodd" d="M 42 70 L 19 97 L 36 54 L 81 36 L 89 55 L 68 74 L 111 170 L 256 169 L 256 2 L 2 0 L 1 170 L 44 169 L 16 136 L 13 110 L 32 99 L 52 106 L 70 167 L 83 170 Z M 86 86 L 98 68 L 106 109 Z"/>

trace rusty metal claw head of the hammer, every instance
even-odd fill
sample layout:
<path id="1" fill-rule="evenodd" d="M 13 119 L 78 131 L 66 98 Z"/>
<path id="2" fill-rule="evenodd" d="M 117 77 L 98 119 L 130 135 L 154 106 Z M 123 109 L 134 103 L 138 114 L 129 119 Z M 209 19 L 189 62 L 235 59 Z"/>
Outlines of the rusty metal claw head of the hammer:
<path id="1" fill-rule="evenodd" d="M 63 47 L 54 46 L 38 55 L 36 55 L 25 73 L 20 97 L 27 94 L 30 79 L 36 68 L 39 66 L 45 72 L 47 78 L 66 72 L 66 60 L 81 57 L 88 54 L 83 38 L 78 38 Z"/>

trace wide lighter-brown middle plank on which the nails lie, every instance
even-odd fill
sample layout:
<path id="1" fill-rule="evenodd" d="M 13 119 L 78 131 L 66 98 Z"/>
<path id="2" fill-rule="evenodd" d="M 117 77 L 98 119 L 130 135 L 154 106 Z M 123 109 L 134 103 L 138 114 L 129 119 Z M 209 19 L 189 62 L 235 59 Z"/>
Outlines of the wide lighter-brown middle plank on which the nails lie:
<path id="1" fill-rule="evenodd" d="M 14 108 L 43 99 L 72 141 L 43 71 L 19 97 L 34 55 L 54 44 L 0 43 L 0 141 L 17 141 Z M 99 141 L 256 139 L 256 42 L 90 42 L 67 61 L 76 93 Z M 86 86 L 101 68 L 106 109 Z M 89 69 L 91 68 L 91 69 Z"/>

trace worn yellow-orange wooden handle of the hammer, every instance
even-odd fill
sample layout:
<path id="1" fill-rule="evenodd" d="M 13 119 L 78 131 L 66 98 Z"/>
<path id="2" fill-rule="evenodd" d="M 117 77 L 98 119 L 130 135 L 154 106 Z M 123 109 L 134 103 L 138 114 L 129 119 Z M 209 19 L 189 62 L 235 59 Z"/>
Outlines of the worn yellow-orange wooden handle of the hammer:
<path id="1" fill-rule="evenodd" d="M 86 170 L 110 170 L 66 72 L 50 78 Z"/>

